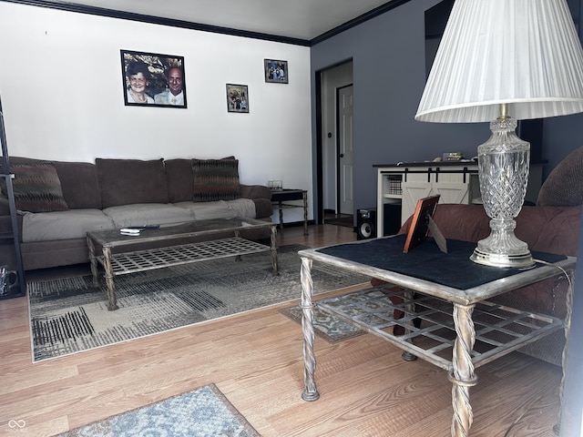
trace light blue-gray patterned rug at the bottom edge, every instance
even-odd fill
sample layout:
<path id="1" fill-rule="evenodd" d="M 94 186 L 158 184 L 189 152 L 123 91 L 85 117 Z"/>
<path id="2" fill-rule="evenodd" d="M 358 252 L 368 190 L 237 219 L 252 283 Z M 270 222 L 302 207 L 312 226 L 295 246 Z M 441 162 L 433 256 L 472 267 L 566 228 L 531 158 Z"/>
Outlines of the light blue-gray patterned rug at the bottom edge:
<path id="1" fill-rule="evenodd" d="M 253 437 L 260 433 L 210 384 L 56 437 Z"/>

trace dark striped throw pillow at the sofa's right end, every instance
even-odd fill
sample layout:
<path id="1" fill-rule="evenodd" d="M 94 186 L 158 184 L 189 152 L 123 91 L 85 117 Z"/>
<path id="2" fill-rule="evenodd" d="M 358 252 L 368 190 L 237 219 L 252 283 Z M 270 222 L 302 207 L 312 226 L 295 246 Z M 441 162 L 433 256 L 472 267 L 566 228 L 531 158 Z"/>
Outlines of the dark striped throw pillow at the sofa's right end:
<path id="1" fill-rule="evenodd" d="M 192 159 L 195 202 L 240 198 L 238 159 Z"/>

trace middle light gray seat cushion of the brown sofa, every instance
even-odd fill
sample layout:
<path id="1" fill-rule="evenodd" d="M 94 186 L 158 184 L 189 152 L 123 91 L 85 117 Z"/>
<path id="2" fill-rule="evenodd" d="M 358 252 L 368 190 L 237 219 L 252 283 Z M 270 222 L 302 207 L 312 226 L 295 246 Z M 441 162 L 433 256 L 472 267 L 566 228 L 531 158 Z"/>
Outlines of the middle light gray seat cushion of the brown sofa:
<path id="1" fill-rule="evenodd" d="M 130 226 L 164 225 L 191 221 L 194 216 L 186 208 L 170 204 L 142 203 L 105 208 L 103 212 L 112 219 L 116 228 Z"/>

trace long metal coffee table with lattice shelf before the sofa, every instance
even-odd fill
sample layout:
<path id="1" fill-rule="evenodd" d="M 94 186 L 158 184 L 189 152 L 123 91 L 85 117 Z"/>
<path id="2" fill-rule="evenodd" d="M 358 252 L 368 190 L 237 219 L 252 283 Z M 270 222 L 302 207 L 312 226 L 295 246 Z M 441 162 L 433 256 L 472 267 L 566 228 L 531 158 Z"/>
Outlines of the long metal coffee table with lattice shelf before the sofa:
<path id="1" fill-rule="evenodd" d="M 267 246 L 240 237 L 240 231 L 270 229 L 271 245 Z M 232 237 L 224 238 L 232 233 Z M 107 309 L 118 310 L 114 277 L 138 271 L 162 269 L 251 253 L 271 251 L 273 274 L 277 274 L 276 225 L 257 219 L 211 219 L 162 225 L 157 229 L 142 229 L 137 236 L 120 233 L 120 229 L 87 232 L 87 247 L 94 284 L 98 284 L 97 265 L 105 269 Z M 216 238 L 213 238 L 216 237 Z M 204 241 L 188 242 L 204 238 Z M 150 245 L 156 249 L 137 249 Z M 102 255 L 96 254 L 101 248 Z"/>

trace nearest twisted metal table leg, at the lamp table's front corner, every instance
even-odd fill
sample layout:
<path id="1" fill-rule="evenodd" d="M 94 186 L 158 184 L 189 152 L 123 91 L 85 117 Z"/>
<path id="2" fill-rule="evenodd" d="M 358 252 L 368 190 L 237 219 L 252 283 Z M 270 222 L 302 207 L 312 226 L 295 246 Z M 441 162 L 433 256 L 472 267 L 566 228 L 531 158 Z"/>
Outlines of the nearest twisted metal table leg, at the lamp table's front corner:
<path id="1" fill-rule="evenodd" d="M 471 351 L 476 342 L 476 330 L 472 320 L 474 305 L 454 305 L 454 323 L 457 338 L 454 345 L 452 360 L 453 369 L 450 371 L 449 380 L 452 381 L 452 404 L 454 406 L 454 418 L 452 420 L 452 436 L 467 437 L 470 432 L 474 413 L 470 405 L 470 387 L 476 385 L 477 378 L 474 374 L 474 363 Z"/>

